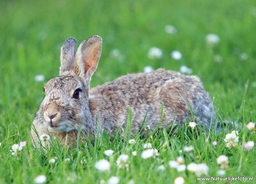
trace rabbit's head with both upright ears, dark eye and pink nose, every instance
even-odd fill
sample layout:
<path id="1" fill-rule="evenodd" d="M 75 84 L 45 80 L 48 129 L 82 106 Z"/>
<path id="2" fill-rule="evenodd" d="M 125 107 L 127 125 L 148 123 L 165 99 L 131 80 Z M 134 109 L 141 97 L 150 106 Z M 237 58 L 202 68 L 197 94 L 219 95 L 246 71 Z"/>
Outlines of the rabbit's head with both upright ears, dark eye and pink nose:
<path id="1" fill-rule="evenodd" d="M 61 47 L 60 76 L 44 87 L 45 97 L 33 124 L 49 132 L 92 131 L 88 97 L 90 80 L 98 66 L 102 39 L 85 39 L 75 52 L 76 39 L 68 38 Z M 84 126 L 86 124 L 86 126 Z"/>

